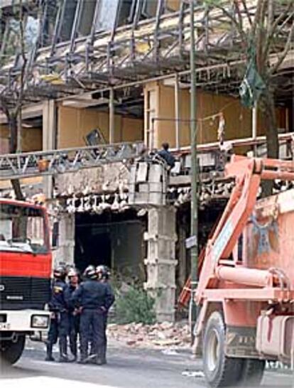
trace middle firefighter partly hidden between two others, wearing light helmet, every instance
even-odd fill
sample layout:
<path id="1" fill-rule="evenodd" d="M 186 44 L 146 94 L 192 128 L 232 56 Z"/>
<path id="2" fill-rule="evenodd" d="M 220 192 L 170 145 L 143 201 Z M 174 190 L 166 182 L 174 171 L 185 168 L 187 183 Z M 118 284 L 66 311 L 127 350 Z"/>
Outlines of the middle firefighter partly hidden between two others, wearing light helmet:
<path id="1" fill-rule="evenodd" d="M 71 268 L 67 273 L 69 280 L 68 284 L 68 299 L 71 299 L 72 293 L 77 289 L 80 284 L 80 275 L 77 269 Z M 72 353 L 74 360 L 77 360 L 77 335 L 80 332 L 80 309 L 79 307 L 72 306 L 70 303 L 68 311 L 69 319 L 69 333 L 70 333 L 70 352 Z"/>

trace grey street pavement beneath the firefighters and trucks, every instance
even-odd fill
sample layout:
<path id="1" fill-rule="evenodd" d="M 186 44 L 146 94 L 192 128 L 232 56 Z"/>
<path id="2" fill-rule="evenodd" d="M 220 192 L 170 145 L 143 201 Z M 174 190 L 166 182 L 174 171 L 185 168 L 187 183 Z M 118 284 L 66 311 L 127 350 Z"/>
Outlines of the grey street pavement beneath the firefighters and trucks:
<path id="1" fill-rule="evenodd" d="M 57 356 L 57 353 L 55 353 Z M 14 367 L 1 368 L 1 388 L 204 388 L 200 361 L 179 350 L 147 350 L 112 343 L 104 366 L 45 362 L 43 344 L 29 342 Z M 56 357 L 57 358 L 57 357 Z M 266 372 L 263 388 L 294 387 L 293 376 Z"/>

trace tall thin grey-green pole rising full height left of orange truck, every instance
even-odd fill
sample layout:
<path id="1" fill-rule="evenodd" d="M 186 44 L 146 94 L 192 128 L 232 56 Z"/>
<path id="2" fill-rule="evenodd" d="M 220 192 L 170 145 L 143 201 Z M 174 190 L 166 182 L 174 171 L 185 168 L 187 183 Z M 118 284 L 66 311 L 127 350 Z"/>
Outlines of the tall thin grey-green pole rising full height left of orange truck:
<path id="1" fill-rule="evenodd" d="M 194 28 L 194 8 L 195 0 L 190 0 L 190 33 L 191 33 L 191 48 L 190 48 L 190 70 L 191 70 L 191 86 L 190 86 L 190 131 L 191 131 L 191 238 L 193 244 L 190 248 L 191 259 L 191 301 L 190 301 L 190 319 L 191 328 L 194 328 L 197 318 L 197 306 L 194 301 L 195 290 L 197 289 L 198 281 L 198 205 L 197 205 L 197 122 L 196 122 L 196 72 L 195 72 L 195 28 Z M 193 330 L 192 330 L 193 338 Z"/>

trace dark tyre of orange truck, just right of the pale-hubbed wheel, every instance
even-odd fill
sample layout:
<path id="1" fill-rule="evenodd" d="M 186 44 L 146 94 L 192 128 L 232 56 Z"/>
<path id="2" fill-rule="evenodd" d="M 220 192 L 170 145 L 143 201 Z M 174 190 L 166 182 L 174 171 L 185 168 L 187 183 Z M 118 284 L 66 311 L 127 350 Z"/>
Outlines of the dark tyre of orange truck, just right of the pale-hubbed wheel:
<path id="1" fill-rule="evenodd" d="M 264 360 L 244 359 L 239 387 L 258 387 L 261 384 L 265 367 Z"/>

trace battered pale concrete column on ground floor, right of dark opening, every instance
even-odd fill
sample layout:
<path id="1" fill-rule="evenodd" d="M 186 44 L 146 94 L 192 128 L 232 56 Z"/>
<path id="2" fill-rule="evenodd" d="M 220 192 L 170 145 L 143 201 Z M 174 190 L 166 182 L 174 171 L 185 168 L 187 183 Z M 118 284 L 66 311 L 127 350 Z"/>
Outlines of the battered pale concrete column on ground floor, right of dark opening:
<path id="1" fill-rule="evenodd" d="M 158 322 L 175 319 L 175 209 L 152 208 L 148 211 L 147 282 L 145 289 L 156 299 Z"/>

